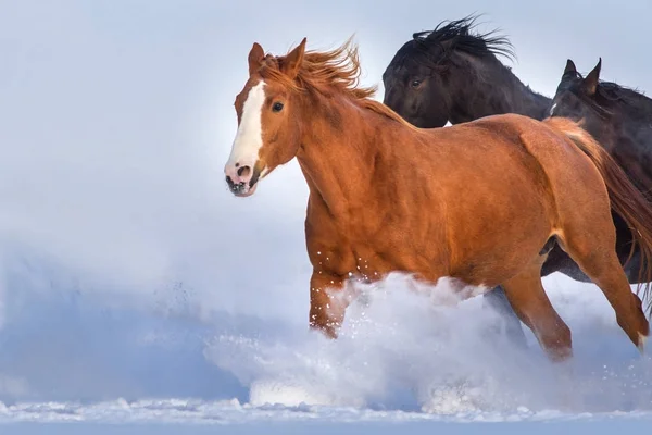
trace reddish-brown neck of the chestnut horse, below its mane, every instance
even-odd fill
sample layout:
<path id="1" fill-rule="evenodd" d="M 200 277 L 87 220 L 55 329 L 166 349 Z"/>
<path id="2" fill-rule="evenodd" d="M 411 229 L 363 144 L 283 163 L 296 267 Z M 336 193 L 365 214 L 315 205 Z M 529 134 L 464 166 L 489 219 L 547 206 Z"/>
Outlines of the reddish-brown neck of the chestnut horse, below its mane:
<path id="1" fill-rule="evenodd" d="M 306 101 L 297 160 L 310 187 L 336 220 L 350 217 L 352 204 L 364 202 L 373 188 L 374 167 L 386 148 L 377 127 L 383 115 L 344 97 Z"/>

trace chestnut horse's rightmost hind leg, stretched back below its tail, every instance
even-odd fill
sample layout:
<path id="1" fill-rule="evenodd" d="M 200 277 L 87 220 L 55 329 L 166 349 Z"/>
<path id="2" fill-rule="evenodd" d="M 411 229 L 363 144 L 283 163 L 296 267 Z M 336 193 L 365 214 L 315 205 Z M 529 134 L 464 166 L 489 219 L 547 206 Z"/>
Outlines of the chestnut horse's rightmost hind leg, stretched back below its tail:
<path id="1" fill-rule="evenodd" d="M 642 352 L 650 325 L 641 300 L 631 291 L 616 256 L 613 224 L 606 219 L 598 219 L 597 214 L 592 215 L 591 223 L 585 224 L 564 228 L 559 236 L 560 246 L 600 287 L 616 313 L 618 325 Z"/>

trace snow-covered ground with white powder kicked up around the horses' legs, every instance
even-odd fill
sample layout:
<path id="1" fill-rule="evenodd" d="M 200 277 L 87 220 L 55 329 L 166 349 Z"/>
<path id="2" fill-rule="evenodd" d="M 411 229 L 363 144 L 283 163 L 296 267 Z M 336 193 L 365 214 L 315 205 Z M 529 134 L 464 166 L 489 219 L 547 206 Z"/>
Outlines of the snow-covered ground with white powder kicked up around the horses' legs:
<path id="1" fill-rule="evenodd" d="M 15 265 L 0 331 L 8 430 L 652 424 L 652 359 L 638 355 L 595 287 L 563 276 L 546 283 L 575 334 L 569 366 L 550 364 L 529 331 L 527 349 L 513 346 L 480 298 L 442 304 L 446 284 L 415 289 L 401 275 L 361 287 L 330 341 L 302 322 L 200 320 L 180 285 L 159 294 L 173 307 L 121 307 L 42 264 L 5 264 Z"/>

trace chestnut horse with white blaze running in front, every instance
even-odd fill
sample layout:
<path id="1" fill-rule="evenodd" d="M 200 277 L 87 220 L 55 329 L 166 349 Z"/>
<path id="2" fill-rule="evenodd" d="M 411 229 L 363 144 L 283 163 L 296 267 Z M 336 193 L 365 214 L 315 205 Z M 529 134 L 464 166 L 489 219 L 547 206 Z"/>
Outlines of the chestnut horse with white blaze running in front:
<path id="1" fill-rule="evenodd" d="M 569 120 L 496 115 L 419 129 L 358 86 L 350 42 L 286 55 L 254 44 L 236 97 L 238 130 L 226 182 L 252 195 L 298 159 L 310 197 L 310 325 L 337 337 L 349 279 L 406 272 L 427 283 L 502 285 L 553 361 L 572 356 L 540 269 L 559 244 L 602 289 L 619 326 L 642 350 L 649 324 L 618 262 L 614 207 L 652 249 L 652 208 L 613 159 Z M 611 198 L 611 201 L 610 201 Z"/>

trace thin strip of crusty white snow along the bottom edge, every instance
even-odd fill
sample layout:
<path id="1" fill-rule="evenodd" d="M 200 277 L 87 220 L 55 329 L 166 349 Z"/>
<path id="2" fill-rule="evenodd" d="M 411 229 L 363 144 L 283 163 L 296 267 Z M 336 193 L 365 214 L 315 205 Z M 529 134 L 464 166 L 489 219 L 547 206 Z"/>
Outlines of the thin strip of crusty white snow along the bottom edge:
<path id="1" fill-rule="evenodd" d="M 591 413 L 570 414 L 556 411 L 532 412 L 525 408 L 514 413 L 462 412 L 452 415 L 427 414 L 410 411 L 378 411 L 351 407 L 319 407 L 301 405 L 298 407 L 240 405 L 237 400 L 203 401 L 196 399 L 138 400 L 124 399 L 79 403 L 25 403 L 4 407 L 0 413 L 0 424 L 10 422 L 87 422 L 87 423 L 192 423 L 192 424 L 242 424 L 242 423 L 472 423 L 472 422 L 565 422 L 599 421 L 623 417 L 620 413 L 594 415 Z M 648 413 L 634 412 L 631 419 L 649 420 Z"/>

